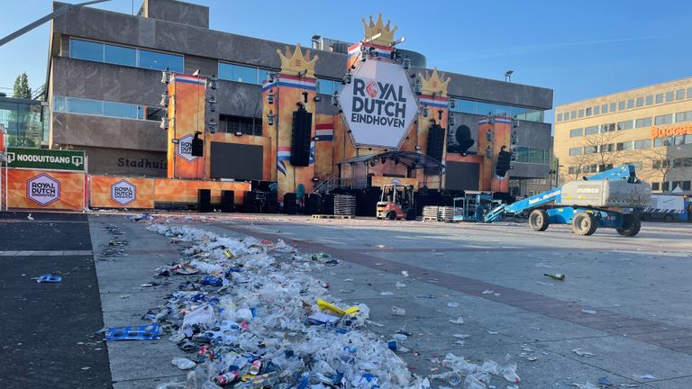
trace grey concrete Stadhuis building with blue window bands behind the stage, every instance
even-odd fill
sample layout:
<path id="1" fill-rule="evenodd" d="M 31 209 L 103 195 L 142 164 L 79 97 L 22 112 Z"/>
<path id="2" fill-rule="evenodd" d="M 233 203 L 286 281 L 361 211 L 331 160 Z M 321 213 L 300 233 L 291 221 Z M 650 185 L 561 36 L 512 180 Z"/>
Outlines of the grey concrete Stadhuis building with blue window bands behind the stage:
<path id="1" fill-rule="evenodd" d="M 333 114 L 329 95 L 344 77 L 348 43 L 319 36 L 312 43 L 323 95 L 317 113 Z M 63 14 L 50 31 L 50 147 L 87 150 L 91 173 L 165 176 L 161 70 L 217 75 L 219 131 L 257 134 L 261 83 L 280 67 L 277 50 L 286 45 L 210 30 L 208 7 L 173 0 L 144 0 L 137 15 L 88 7 Z M 422 54 L 409 58 L 412 68 L 427 68 Z M 552 90 L 444 73 L 457 125 L 475 128 L 487 113 L 516 117 L 511 178 L 547 178 L 551 124 L 543 113 L 552 108 Z"/>

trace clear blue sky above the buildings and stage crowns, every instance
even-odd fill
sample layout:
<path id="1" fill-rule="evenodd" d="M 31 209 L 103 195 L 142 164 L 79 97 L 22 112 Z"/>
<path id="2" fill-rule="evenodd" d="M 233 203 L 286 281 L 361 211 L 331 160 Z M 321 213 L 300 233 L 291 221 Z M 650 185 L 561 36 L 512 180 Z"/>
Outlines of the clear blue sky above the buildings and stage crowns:
<path id="1" fill-rule="evenodd" d="M 552 88 L 555 105 L 692 76 L 692 2 L 684 0 L 189 2 L 210 7 L 214 30 L 305 46 L 314 34 L 359 41 L 360 19 L 382 13 L 399 26 L 396 36 L 405 36 L 401 47 L 422 52 L 429 68 L 495 79 L 513 69 L 513 82 Z M 132 5 L 136 13 L 141 0 L 96 7 L 130 14 Z M 0 35 L 49 14 L 50 6 L 3 2 Z M 41 86 L 48 39 L 45 24 L 0 47 L 0 87 L 12 88 L 23 71 L 33 88 Z"/>

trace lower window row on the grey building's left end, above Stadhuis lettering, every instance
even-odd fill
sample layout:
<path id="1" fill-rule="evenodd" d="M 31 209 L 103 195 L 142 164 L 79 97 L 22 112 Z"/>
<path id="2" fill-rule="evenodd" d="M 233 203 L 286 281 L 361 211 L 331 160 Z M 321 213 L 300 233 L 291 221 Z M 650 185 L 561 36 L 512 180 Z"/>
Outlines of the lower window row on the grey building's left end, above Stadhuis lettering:
<path id="1" fill-rule="evenodd" d="M 52 109 L 53 112 L 59 113 L 79 113 L 155 122 L 159 122 L 163 116 L 163 108 L 158 106 L 117 103 L 59 95 L 53 98 Z"/>

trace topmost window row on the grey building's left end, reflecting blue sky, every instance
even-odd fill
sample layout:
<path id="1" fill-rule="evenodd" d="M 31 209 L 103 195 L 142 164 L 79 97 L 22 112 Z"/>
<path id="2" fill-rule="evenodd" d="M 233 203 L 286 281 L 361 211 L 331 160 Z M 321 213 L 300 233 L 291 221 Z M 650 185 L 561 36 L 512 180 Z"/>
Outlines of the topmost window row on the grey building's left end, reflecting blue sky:
<path id="1" fill-rule="evenodd" d="M 185 71 L 184 57 L 159 51 L 134 49 L 96 41 L 69 39 L 69 57 L 87 59 L 133 68 L 149 68 L 155 70 L 169 69 L 173 72 Z"/>

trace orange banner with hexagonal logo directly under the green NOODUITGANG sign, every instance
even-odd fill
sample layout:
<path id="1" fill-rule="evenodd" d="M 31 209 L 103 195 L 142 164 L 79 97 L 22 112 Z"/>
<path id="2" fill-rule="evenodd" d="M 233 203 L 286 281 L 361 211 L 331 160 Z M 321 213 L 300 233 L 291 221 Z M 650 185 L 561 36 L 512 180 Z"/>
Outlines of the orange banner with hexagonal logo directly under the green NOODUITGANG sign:
<path id="1" fill-rule="evenodd" d="M 8 206 L 80 211 L 85 208 L 85 174 L 10 168 Z"/>

